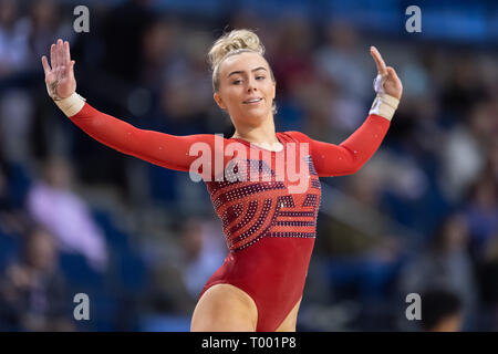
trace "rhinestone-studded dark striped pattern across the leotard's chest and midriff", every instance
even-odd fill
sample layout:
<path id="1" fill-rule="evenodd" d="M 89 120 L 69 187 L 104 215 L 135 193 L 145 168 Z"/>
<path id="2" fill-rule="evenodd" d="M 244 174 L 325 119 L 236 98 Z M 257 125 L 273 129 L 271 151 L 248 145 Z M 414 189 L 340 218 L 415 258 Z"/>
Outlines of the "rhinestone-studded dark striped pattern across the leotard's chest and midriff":
<path id="1" fill-rule="evenodd" d="M 288 186 L 292 184 L 276 180 L 276 173 L 264 160 L 239 160 L 227 168 L 222 181 L 206 183 L 230 252 L 241 251 L 264 237 L 315 237 L 321 187 L 311 157 L 304 157 L 304 162 L 309 184 L 301 194 L 290 194 Z M 238 180 L 236 174 L 247 179 Z M 259 174 L 260 181 L 249 180 L 255 174 Z"/>

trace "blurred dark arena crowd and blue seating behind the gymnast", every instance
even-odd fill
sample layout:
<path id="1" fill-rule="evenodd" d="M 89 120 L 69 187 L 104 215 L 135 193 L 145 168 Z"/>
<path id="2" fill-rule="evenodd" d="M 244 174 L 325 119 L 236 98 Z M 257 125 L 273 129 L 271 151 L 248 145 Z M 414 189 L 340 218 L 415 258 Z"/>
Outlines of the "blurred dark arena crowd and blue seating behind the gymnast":
<path id="1" fill-rule="evenodd" d="M 73 31 L 79 4 L 89 33 Z M 422 33 L 405 30 L 411 4 Z M 76 128 L 40 58 L 68 40 L 94 107 L 228 137 L 206 54 L 236 28 L 267 48 L 279 132 L 346 138 L 374 97 L 371 44 L 404 84 L 367 165 L 322 178 L 298 331 L 419 331 L 453 314 L 498 330 L 498 6 L 394 0 L 0 0 L 0 330 L 188 331 L 227 252 L 205 185 Z M 413 292 L 423 321 L 405 317 Z M 76 293 L 90 321 L 73 317 Z"/>

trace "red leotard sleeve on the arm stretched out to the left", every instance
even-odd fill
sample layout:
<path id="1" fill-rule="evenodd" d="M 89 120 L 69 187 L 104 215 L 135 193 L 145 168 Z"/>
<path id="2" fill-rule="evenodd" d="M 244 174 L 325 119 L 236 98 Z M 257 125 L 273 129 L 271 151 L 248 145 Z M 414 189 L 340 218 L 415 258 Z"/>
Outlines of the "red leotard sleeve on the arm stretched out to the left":
<path id="1" fill-rule="evenodd" d="M 175 170 L 188 171 L 190 164 L 198 158 L 198 155 L 189 154 L 193 144 L 206 143 L 211 152 L 215 150 L 212 134 L 176 136 L 139 129 L 95 110 L 87 103 L 70 119 L 108 147 Z"/>

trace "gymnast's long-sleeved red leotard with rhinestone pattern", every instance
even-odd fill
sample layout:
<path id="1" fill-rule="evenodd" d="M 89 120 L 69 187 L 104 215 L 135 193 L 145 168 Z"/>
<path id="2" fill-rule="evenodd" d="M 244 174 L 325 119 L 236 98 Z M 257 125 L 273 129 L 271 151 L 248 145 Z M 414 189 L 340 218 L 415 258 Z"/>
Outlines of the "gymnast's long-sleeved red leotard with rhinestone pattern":
<path id="1" fill-rule="evenodd" d="M 174 136 L 143 131 L 103 114 L 87 103 L 70 119 L 112 148 L 175 170 L 188 171 L 190 164 L 198 158 L 189 154 L 194 143 L 206 143 L 210 147 L 212 166 L 214 154 L 224 156 L 212 134 Z M 247 176 L 250 170 L 256 171 L 261 180 L 218 180 L 212 178 L 214 171 L 211 178 L 206 178 L 209 174 L 203 176 L 221 219 L 229 253 L 199 298 L 214 284 L 232 284 L 255 301 L 257 331 L 277 330 L 301 299 L 304 289 L 320 205 L 319 177 L 355 173 L 378 148 L 388 127 L 386 118 L 370 115 L 341 145 L 313 140 L 300 132 L 277 133 L 284 147 L 289 143 L 309 144 L 309 155 L 303 157 L 309 167 L 303 176 L 309 183 L 300 192 L 289 191 L 288 187 L 297 186 L 298 181 L 290 181 L 287 174 L 283 180 L 276 177 L 276 159 L 283 154 L 289 156 L 286 149 L 269 152 L 242 139 L 224 138 L 225 146 L 237 142 L 247 152 L 246 159 L 227 170 L 240 173 L 239 168 L 242 168 Z M 299 148 L 298 144 L 294 166 L 299 166 Z M 251 159 L 251 150 L 262 156 Z M 235 155 L 225 156 L 222 166 L 227 166 L 232 157 Z M 203 168 L 199 168 L 200 173 Z M 264 176 L 268 180 L 263 179 Z"/>

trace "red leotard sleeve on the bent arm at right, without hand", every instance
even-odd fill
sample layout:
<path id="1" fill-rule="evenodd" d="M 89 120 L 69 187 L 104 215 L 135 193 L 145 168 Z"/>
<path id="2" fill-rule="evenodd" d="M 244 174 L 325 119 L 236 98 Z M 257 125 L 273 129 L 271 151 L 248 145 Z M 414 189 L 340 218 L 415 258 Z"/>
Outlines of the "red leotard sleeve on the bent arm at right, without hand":
<path id="1" fill-rule="evenodd" d="M 391 122 L 371 114 L 343 143 L 334 145 L 313 140 L 297 133 L 300 140 L 310 144 L 310 155 L 320 177 L 344 176 L 357 171 L 377 150 Z"/>

